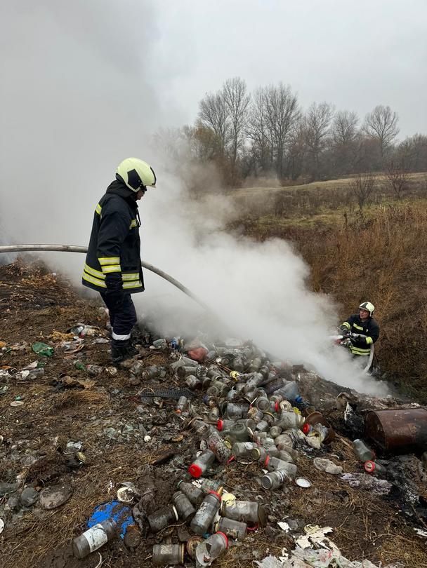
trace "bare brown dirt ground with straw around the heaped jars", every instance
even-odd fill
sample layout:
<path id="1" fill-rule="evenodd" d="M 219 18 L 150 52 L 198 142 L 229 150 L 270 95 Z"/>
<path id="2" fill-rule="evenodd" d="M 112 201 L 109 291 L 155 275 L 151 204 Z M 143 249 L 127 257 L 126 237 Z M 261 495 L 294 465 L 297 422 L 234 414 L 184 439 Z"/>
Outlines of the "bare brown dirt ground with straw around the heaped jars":
<path id="1" fill-rule="evenodd" d="M 54 332 L 65 334 L 77 322 L 97 326 L 99 332 L 85 338 L 84 349 L 67 354 L 61 351 Z M 21 370 L 34 360 L 45 363 L 44 376 L 33 381 L 0 377 L 0 389 L 8 387 L 0 394 L 0 483 L 13 483 L 19 475 L 22 484 L 37 491 L 58 484 L 72 489 L 70 499 L 52 510 L 37 503 L 15 506 L 0 535 L 3 568 L 93 568 L 98 553 L 77 560 L 71 555 L 70 542 L 86 529 L 96 506 L 115 499 L 121 482 L 131 481 L 143 493 L 152 490 L 147 509 L 155 510 L 171 503 L 178 480 L 188 479 L 187 468 L 199 440 L 173 412 L 172 400 L 157 405 L 138 395 L 142 386 L 171 388 L 178 386 L 178 379 L 168 371 L 162 381 L 135 385 L 126 369 L 109 374 L 109 344 L 94 342 L 108 338 L 105 323 L 100 304 L 81 299 L 43 264 L 18 260 L 0 266 L 0 342 L 6 348 L 0 351 L 0 370 Z M 34 342 L 55 346 L 53 356 L 37 356 L 31 350 Z M 74 366 L 77 360 L 100 365 L 103 372 L 91 376 Z M 140 360 L 147 367 L 167 367 L 172 359 L 169 351 L 141 349 Z M 23 404 L 11 406 L 15 400 Z M 151 440 L 145 442 L 147 433 Z M 84 461 L 73 461 L 67 455 L 70 441 L 82 442 Z M 154 465 L 165 452 L 169 459 Z M 426 539 L 414 532 L 414 527 L 424 526 L 422 520 L 404 515 L 400 503 L 391 497 L 375 497 L 353 489 L 337 475 L 317 471 L 313 466 L 316 456 L 333 459 L 344 472 L 362 472 L 348 440 L 340 436 L 315 453 L 300 452 L 298 476 L 311 481 L 308 489 L 289 484 L 268 492 L 259 484 L 258 464 L 232 461 L 218 466 L 211 477 L 221 479 L 225 489 L 239 499 L 265 503 L 268 525 L 249 532 L 241 543 L 230 543 L 228 553 L 215 565 L 256 566 L 254 560 L 265 555 L 292 550 L 294 540 L 277 525 L 292 519 L 299 527 L 293 534 L 302 534 L 308 524 L 332 527 L 331 540 L 350 560 L 427 567 Z M 0 518 L 8 499 L 0 497 Z M 117 539 L 101 549 L 103 567 L 151 567 L 152 545 L 184 539 L 182 529 L 169 527 L 157 536 L 143 532 L 136 548 Z"/>

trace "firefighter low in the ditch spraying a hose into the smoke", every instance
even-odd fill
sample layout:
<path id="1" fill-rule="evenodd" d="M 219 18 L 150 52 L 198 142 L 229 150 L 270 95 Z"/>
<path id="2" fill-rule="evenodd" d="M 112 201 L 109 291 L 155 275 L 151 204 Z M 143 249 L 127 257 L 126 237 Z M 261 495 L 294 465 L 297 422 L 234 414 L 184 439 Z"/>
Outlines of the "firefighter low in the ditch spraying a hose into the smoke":
<path id="1" fill-rule="evenodd" d="M 379 338 L 379 325 L 372 317 L 374 309 L 375 306 L 371 302 L 362 302 L 359 306 L 359 313 L 350 316 L 340 325 L 343 334 L 351 332 L 359 336 L 350 337 L 350 351 L 353 355 L 368 356 L 371 345 Z"/>

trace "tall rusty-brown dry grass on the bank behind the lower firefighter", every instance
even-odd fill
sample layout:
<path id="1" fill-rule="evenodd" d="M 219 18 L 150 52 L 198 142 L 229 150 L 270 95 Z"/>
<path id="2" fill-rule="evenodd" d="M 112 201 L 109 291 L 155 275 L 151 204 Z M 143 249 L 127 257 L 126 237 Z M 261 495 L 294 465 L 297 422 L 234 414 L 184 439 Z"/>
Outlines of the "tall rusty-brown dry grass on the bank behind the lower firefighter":
<path id="1" fill-rule="evenodd" d="M 332 214 L 331 214 L 332 215 Z M 357 215 L 312 226 L 298 219 L 265 224 L 243 220 L 245 234 L 261 240 L 287 238 L 311 269 L 311 286 L 339 303 L 341 318 L 369 299 L 376 306 L 381 367 L 418 400 L 427 400 L 427 202 L 423 199 L 372 207 Z"/>

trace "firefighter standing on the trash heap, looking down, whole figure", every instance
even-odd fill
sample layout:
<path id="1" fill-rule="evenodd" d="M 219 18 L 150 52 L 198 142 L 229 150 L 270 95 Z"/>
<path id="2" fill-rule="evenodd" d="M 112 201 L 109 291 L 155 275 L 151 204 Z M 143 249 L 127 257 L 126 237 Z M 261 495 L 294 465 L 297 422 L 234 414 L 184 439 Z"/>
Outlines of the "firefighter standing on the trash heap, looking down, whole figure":
<path id="1" fill-rule="evenodd" d="M 110 312 L 113 363 L 138 353 L 131 344 L 131 330 L 136 324 L 131 294 L 143 292 L 144 280 L 136 202 L 147 187 L 155 184 L 150 165 L 138 158 L 127 158 L 117 168 L 116 179 L 100 198 L 93 215 L 82 283 L 100 292 Z"/>

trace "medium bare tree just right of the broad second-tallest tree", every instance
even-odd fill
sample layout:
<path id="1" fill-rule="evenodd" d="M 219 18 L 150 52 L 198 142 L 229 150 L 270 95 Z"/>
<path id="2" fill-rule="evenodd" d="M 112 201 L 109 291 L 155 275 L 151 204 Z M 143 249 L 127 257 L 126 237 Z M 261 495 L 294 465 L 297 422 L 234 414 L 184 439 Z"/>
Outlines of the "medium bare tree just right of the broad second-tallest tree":
<path id="1" fill-rule="evenodd" d="M 327 133 L 334 116 L 334 107 L 329 102 L 313 104 L 306 113 L 306 145 L 310 158 L 309 169 L 313 180 L 319 177 L 320 154 L 326 146 Z"/>

